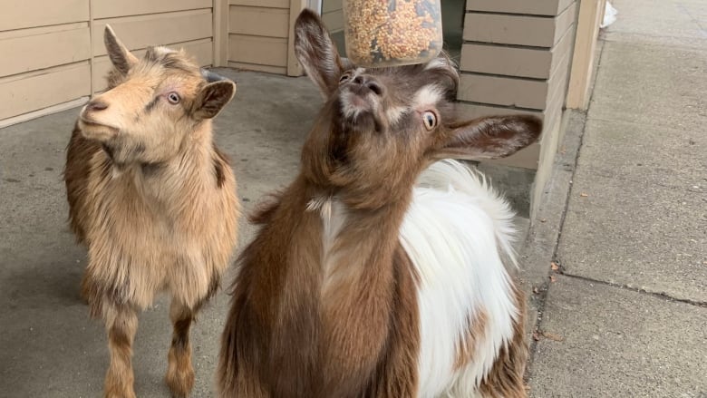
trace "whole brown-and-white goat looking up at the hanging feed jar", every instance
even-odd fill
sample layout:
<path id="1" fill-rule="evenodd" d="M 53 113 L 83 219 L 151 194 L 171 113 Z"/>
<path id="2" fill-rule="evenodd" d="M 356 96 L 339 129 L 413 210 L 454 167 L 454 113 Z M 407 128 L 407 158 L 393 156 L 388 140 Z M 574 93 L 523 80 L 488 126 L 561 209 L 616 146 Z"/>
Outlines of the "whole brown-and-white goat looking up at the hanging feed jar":
<path id="1" fill-rule="evenodd" d="M 508 156 L 536 141 L 540 121 L 460 121 L 446 56 L 359 68 L 308 10 L 295 53 L 324 108 L 298 177 L 253 217 L 262 227 L 238 259 L 220 396 L 525 396 L 512 211 L 442 159 Z"/>

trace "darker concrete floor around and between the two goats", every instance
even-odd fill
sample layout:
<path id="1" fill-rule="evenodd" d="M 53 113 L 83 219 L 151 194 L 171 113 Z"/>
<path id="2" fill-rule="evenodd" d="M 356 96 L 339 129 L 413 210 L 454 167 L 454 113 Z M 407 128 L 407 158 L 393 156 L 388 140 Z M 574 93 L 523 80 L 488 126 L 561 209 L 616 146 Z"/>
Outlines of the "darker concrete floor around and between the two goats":
<path id="1" fill-rule="evenodd" d="M 237 82 L 235 99 L 216 120 L 216 141 L 232 161 L 247 211 L 295 176 L 322 100 L 305 77 L 218 71 Z M 106 338 L 78 296 L 86 255 L 67 226 L 62 180 L 64 148 L 78 112 L 0 130 L 0 397 L 102 393 Z M 240 224 L 242 247 L 254 230 L 245 218 Z M 518 218 L 518 225 L 527 230 L 528 219 Z M 169 396 L 162 382 L 171 338 L 168 304 L 162 297 L 140 315 L 133 357 L 138 396 Z M 213 395 L 227 309 L 222 290 L 192 329 L 195 397 Z"/>

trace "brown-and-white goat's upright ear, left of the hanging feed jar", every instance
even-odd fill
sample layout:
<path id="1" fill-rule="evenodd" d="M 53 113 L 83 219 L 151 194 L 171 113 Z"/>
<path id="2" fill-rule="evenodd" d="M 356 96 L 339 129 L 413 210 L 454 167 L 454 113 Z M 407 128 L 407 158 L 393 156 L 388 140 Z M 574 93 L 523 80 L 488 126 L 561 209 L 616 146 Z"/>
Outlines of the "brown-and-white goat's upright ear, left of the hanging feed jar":
<path id="1" fill-rule="evenodd" d="M 314 11 L 305 9 L 295 22 L 295 54 L 324 98 L 336 90 L 344 71 L 339 53 Z"/>

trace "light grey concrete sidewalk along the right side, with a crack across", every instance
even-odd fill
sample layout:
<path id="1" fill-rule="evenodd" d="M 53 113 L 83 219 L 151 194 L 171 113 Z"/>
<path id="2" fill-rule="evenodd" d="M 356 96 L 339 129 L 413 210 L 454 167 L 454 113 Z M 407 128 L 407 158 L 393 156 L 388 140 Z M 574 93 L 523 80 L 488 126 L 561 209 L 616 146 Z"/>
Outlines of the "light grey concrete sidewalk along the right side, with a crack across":
<path id="1" fill-rule="evenodd" d="M 618 20 L 600 38 L 558 267 L 546 263 L 552 281 L 536 287 L 530 392 L 703 398 L 707 2 L 612 4 Z M 533 236 L 530 253 L 550 244 Z"/>

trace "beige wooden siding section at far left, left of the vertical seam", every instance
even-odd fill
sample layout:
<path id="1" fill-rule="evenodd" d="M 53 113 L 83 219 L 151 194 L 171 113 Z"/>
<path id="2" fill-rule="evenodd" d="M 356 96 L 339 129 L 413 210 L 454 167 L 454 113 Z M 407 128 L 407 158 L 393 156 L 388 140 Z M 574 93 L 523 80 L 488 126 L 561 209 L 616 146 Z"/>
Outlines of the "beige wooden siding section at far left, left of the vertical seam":
<path id="1" fill-rule="evenodd" d="M 0 127 L 47 108 L 61 109 L 63 103 L 87 101 L 89 20 L 89 0 L 5 1 L 0 12 Z"/>

